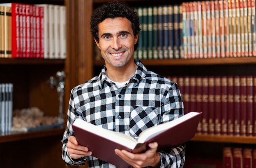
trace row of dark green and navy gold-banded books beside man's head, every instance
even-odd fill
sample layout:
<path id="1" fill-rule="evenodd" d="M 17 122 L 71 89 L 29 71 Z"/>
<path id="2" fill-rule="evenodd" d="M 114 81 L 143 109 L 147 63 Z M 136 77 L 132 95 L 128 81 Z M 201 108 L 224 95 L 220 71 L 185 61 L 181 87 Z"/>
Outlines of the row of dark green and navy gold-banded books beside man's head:
<path id="1" fill-rule="evenodd" d="M 181 5 L 137 7 L 140 21 L 135 59 L 182 58 Z"/>

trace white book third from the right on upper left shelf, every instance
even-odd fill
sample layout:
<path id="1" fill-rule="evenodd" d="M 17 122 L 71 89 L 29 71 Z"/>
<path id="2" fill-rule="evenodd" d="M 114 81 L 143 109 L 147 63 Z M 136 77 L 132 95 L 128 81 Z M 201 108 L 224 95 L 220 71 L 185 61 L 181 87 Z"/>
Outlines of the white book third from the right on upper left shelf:
<path id="1" fill-rule="evenodd" d="M 49 58 L 55 58 L 55 46 L 54 46 L 54 5 L 49 4 L 48 9 L 49 20 Z"/>

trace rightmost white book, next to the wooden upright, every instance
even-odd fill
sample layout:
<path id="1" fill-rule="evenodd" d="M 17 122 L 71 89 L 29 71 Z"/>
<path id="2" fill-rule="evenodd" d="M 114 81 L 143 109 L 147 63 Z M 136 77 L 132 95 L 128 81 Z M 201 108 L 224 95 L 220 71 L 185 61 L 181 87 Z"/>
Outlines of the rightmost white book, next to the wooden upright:
<path id="1" fill-rule="evenodd" d="M 66 6 L 60 6 L 60 58 L 67 58 Z"/>

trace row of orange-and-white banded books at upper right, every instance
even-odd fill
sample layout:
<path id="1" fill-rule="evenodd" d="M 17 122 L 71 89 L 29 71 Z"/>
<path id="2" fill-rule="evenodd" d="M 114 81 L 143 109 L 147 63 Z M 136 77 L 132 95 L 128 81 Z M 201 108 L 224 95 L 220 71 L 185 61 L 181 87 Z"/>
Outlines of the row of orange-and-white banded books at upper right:
<path id="1" fill-rule="evenodd" d="M 184 2 L 184 58 L 256 56 L 255 0 Z"/>

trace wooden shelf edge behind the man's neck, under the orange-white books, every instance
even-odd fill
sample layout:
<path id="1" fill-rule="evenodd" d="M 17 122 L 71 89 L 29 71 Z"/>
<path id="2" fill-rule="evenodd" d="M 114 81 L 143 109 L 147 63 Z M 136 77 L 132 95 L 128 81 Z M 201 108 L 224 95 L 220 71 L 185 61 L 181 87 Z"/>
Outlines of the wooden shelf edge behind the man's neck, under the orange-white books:
<path id="1" fill-rule="evenodd" d="M 226 65 L 226 64 L 256 64 L 256 56 L 232 58 L 197 58 L 197 59 L 141 59 L 144 65 Z M 94 65 L 104 65 L 104 60 L 94 60 Z"/>

